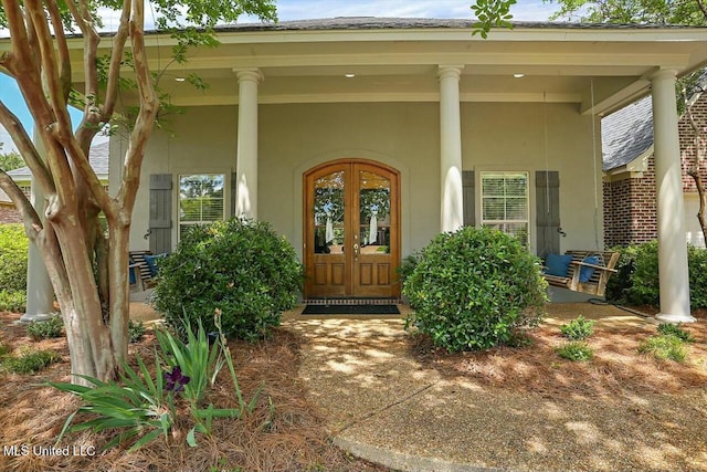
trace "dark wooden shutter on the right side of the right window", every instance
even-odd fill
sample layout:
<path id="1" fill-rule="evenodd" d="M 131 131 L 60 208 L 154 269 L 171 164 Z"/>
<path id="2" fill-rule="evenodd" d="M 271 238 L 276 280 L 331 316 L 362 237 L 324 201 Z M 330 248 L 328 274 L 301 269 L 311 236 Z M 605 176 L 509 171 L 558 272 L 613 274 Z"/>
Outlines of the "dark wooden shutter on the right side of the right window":
<path id="1" fill-rule="evenodd" d="M 560 252 L 560 172 L 536 171 L 535 192 L 538 255 L 545 259 Z"/>

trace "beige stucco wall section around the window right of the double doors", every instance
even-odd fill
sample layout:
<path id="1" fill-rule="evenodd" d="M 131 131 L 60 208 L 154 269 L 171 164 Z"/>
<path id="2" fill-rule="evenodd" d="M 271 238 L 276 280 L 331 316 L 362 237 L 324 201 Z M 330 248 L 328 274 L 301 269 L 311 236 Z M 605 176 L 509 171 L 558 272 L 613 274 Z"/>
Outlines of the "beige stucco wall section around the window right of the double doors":
<path id="1" fill-rule="evenodd" d="M 535 249 L 535 171 L 560 177 L 560 250 L 601 249 L 603 213 L 599 127 L 574 104 L 467 103 L 462 105 L 464 169 L 523 170 L 530 177 L 530 241 Z M 597 138 L 595 149 L 592 137 Z M 595 193 L 597 190 L 597 193 Z M 476 216 L 481 201 L 476 192 Z"/>

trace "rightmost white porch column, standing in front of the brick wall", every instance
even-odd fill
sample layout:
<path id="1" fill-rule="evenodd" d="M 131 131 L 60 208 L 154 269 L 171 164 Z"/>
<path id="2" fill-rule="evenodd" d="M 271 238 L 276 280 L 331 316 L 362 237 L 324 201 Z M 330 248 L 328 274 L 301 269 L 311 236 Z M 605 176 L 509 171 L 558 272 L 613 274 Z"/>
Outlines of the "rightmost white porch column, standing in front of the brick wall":
<path id="1" fill-rule="evenodd" d="M 651 84 L 661 287 L 661 313 L 656 318 L 667 323 L 689 323 L 695 318 L 689 311 L 675 71 L 658 71 L 651 77 Z"/>

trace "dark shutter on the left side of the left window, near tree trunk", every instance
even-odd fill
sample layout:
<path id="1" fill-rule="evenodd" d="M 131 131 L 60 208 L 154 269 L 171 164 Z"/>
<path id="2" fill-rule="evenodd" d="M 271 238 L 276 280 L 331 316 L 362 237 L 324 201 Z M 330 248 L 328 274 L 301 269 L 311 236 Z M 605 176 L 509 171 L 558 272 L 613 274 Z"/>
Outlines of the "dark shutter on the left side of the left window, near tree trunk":
<path id="1" fill-rule="evenodd" d="M 172 250 L 172 175 L 150 175 L 150 251 L 162 254 Z"/>

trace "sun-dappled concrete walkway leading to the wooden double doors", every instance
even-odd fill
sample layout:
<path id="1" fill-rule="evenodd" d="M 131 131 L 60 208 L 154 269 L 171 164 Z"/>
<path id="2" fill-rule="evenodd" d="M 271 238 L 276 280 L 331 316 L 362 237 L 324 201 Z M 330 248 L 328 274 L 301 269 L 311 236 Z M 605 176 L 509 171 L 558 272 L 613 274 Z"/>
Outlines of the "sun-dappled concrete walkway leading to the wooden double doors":
<path id="1" fill-rule="evenodd" d="M 601 319 L 598 326 L 646 323 L 612 306 L 551 311 L 551 324 L 579 313 Z M 413 358 L 402 319 L 291 316 L 284 326 L 307 338 L 300 377 L 336 444 L 357 457 L 418 472 L 671 469 L 647 445 L 632 451 L 637 426 L 621 420 L 625 406 L 590 411 L 597 407 L 585 401 L 442 378 Z M 608 445 L 597 448 L 598 441 Z M 642 461 L 646 466 L 634 469 Z"/>

